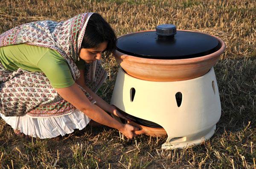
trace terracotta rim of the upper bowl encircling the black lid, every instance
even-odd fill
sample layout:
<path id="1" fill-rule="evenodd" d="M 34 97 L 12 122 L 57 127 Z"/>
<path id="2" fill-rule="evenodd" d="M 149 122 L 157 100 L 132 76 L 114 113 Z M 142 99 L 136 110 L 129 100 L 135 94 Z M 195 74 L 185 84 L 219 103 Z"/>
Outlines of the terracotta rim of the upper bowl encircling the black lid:
<path id="1" fill-rule="evenodd" d="M 150 30 L 150 31 L 155 31 L 155 30 Z M 188 31 L 188 30 L 177 30 L 177 31 Z M 138 31 L 138 32 L 145 32 L 145 31 Z M 130 33 L 130 34 L 136 34 L 138 32 L 133 32 L 133 33 Z M 202 32 L 199 32 L 199 31 L 189 31 L 189 32 L 196 32 L 196 33 L 206 34 L 206 33 L 202 33 Z M 125 34 L 125 35 L 128 35 L 128 34 Z M 118 38 L 123 37 L 125 35 L 119 36 Z M 215 37 L 214 35 L 211 35 L 211 34 L 207 34 L 207 35 Z M 215 38 L 221 44 L 221 48 L 218 51 L 215 51 L 215 52 L 213 52 L 212 54 L 209 54 L 209 55 L 194 57 L 194 58 L 188 58 L 188 59 L 148 59 L 148 58 L 142 58 L 142 57 L 137 57 L 137 56 L 131 56 L 131 55 L 128 55 L 128 54 L 124 54 L 120 51 L 117 51 L 117 49 L 116 49 L 115 52 L 118 55 L 121 55 L 120 56 L 121 59 L 125 59 L 129 62 L 137 62 L 137 63 L 141 63 L 141 64 L 146 64 L 146 65 L 187 65 L 187 64 L 192 64 L 192 63 L 195 63 L 195 62 L 204 62 L 208 59 L 212 59 L 216 56 L 220 56 L 221 54 L 223 54 L 224 51 L 225 51 L 225 48 L 226 48 L 226 44 L 220 38 L 218 38 L 218 37 L 215 37 Z M 114 56 L 116 57 L 115 54 L 114 54 Z M 151 61 L 151 62 L 149 62 L 149 61 Z"/>

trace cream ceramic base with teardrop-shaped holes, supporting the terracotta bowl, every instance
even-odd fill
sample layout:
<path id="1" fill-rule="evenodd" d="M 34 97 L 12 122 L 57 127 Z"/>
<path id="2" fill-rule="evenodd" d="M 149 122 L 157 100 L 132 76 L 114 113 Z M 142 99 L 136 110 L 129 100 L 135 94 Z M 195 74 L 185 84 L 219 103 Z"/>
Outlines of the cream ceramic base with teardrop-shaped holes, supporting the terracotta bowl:
<path id="1" fill-rule="evenodd" d="M 175 97 L 178 92 L 182 94 L 180 106 Z M 163 149 L 201 144 L 214 134 L 221 116 L 213 68 L 204 76 L 178 82 L 145 81 L 129 76 L 120 68 L 111 104 L 161 125 L 168 134 Z"/>

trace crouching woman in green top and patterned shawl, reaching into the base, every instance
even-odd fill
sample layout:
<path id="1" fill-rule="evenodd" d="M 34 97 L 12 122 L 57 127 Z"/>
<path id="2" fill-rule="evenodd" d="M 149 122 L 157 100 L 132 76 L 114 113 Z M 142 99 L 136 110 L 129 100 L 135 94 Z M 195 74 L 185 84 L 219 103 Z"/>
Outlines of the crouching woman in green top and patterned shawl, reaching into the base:
<path id="1" fill-rule="evenodd" d="M 96 13 L 27 23 L 1 34 L 1 117 L 17 134 L 39 138 L 81 130 L 90 119 L 134 137 L 138 129 L 108 115 L 122 117 L 95 94 L 106 78 L 99 60 L 115 45 L 112 28 Z"/>

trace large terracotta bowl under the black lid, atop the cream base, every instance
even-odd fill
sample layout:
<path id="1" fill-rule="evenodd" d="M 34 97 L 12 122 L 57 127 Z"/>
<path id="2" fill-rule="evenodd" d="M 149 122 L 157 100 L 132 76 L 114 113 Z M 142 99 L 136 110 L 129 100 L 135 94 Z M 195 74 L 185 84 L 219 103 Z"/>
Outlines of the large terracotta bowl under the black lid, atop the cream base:
<path id="1" fill-rule="evenodd" d="M 209 36 L 215 37 L 213 35 Z M 226 48 L 225 43 L 218 37 L 215 38 L 218 39 L 220 45 L 218 51 L 195 58 L 147 59 L 123 54 L 117 50 L 114 56 L 126 73 L 138 79 L 155 82 L 173 82 L 194 79 L 206 74 L 224 52 Z"/>

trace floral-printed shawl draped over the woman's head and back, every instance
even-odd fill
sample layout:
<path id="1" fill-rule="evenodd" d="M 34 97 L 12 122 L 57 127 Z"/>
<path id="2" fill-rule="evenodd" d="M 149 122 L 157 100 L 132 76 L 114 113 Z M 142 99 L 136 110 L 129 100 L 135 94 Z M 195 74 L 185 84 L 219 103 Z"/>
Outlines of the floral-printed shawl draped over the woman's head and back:
<path id="1" fill-rule="evenodd" d="M 75 65 L 87 22 L 93 13 L 79 14 L 66 21 L 51 20 L 26 23 L 0 35 L 0 47 L 27 43 L 58 51 L 70 67 L 73 79 L 80 73 Z"/>

